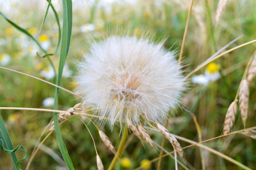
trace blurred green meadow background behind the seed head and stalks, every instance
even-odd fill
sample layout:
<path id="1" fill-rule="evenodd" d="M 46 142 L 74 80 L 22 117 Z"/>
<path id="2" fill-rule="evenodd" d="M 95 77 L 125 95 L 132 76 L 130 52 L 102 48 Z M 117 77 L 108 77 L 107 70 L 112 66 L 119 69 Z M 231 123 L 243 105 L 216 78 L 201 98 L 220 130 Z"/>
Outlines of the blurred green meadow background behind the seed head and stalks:
<path id="1" fill-rule="evenodd" d="M 219 16 L 219 22 L 216 24 L 218 3 L 219 1 L 199 0 L 195 1 L 192 6 L 182 58 L 184 76 L 237 37 L 241 36 L 227 49 L 252 41 L 256 37 L 256 1 L 227 1 Z M 52 5 L 62 25 L 62 1 L 52 0 Z M 47 1 L 0 0 L 0 11 L 3 15 L 26 29 L 47 53 L 54 53 L 59 35 L 58 25 L 51 8 L 39 32 L 47 6 Z M 61 87 L 70 91 L 77 87 L 72 78 L 77 72 L 75 62 L 82 60 L 83 54 L 89 50 L 93 39 L 94 41 L 102 40 L 115 29 L 129 28 L 135 36 L 140 36 L 145 31 L 153 32 L 156 38 L 164 36 L 166 37 L 164 44 L 166 49 L 177 50 L 178 58 L 189 8 L 189 0 L 74 0 L 72 39 Z M 191 79 L 188 80 L 188 90 L 184 92 L 181 105 L 194 113 L 200 126 L 202 141 L 221 135 L 226 111 L 236 97 L 247 63 L 255 52 L 255 46 L 256 43 L 250 44 L 225 54 L 192 75 L 193 79 L 194 76 L 202 74 L 203 79 L 207 74 L 217 73 L 219 75 L 217 78 L 203 80 L 203 82 L 196 77 L 193 82 Z M 3 16 L 0 16 L 0 66 L 54 83 L 54 71 L 49 60 L 47 57 L 40 58 L 36 53 L 44 55 L 44 52 L 30 37 L 18 31 Z M 56 54 L 49 56 L 56 69 L 59 57 L 59 49 Z M 0 107 L 53 109 L 54 89 L 53 86 L 39 80 L 0 69 Z M 250 97 L 246 128 L 256 126 L 255 89 L 254 78 L 249 84 Z M 81 101 L 65 91 L 60 91 L 58 99 L 58 110 L 61 111 L 66 111 Z M 0 113 L 14 147 L 23 145 L 28 150 L 28 158 L 20 162 L 22 169 L 25 169 L 37 139 L 53 117 L 52 113 L 14 109 L 1 109 Z M 93 112 L 87 113 L 93 114 Z M 199 142 L 199 133 L 191 113 L 181 108 L 174 113 L 175 117 L 171 115 L 169 118 L 170 133 Z M 89 123 L 88 120 L 85 122 Z M 99 120 L 95 119 L 95 122 L 100 126 Z M 101 141 L 95 126 L 93 124 L 88 124 L 88 126 L 103 165 L 107 168 L 114 155 Z M 93 142 L 81 120 L 73 117 L 60 128 L 75 169 L 96 169 Z M 115 126 L 112 131 L 108 126 L 102 129 L 117 148 L 120 142 L 119 126 Z M 244 129 L 244 126 L 238 111 L 232 131 L 241 129 Z M 154 131 L 149 131 L 149 133 L 152 139 L 161 145 L 162 135 Z M 47 134 L 45 133 L 43 138 Z M 225 154 L 246 167 L 256 169 L 255 139 L 255 131 L 254 133 L 250 131 L 244 134 L 229 135 L 225 141 L 223 138 L 213 139 L 203 145 Z M 190 145 L 181 140 L 179 142 L 182 147 Z M 133 134 L 129 135 L 126 147 L 122 161 L 117 163 L 116 169 L 135 169 L 149 160 L 158 158 L 160 154 L 159 148 L 150 148 L 146 143 L 141 143 Z M 168 142 L 165 142 L 164 148 L 168 152 L 173 151 Z M 206 169 L 242 169 L 222 156 L 207 150 L 202 150 L 200 155 L 199 148 L 192 146 L 184 149 L 188 169 L 203 169 L 202 161 Z M 24 151 L 19 150 L 16 155 L 18 159 L 23 158 Z M 145 164 L 142 168 L 157 169 L 157 164 L 158 161 Z M 12 166 L 10 155 L 1 150 L 0 169 L 11 169 Z M 30 169 L 66 169 L 65 167 L 56 136 L 53 133 L 49 135 L 35 155 Z M 161 169 L 175 169 L 174 160 L 169 156 L 162 158 Z M 184 168 L 179 165 L 179 169 Z"/>

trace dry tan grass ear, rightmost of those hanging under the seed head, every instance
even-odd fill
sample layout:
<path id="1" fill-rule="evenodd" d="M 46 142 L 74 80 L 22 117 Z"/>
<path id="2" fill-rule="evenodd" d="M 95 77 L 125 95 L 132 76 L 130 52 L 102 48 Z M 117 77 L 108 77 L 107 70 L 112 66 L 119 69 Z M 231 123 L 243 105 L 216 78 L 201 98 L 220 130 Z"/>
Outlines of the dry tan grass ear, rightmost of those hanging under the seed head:
<path id="1" fill-rule="evenodd" d="M 162 125 L 157 124 L 157 128 L 160 130 L 160 132 L 169 140 L 171 145 L 173 145 L 174 150 L 176 150 L 179 154 L 179 156 L 183 157 L 183 150 L 181 148 L 181 145 L 179 145 L 179 142 L 177 139 L 169 133 L 169 131 Z"/>

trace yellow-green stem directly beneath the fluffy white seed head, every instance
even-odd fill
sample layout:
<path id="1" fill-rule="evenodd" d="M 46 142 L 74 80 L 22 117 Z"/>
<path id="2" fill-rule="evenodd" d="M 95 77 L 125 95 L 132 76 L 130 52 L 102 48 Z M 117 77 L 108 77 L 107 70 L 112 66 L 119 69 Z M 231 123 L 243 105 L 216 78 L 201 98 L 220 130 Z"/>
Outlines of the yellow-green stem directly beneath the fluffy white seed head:
<path id="1" fill-rule="evenodd" d="M 122 151 L 123 151 L 124 144 L 125 144 L 125 141 L 126 141 L 126 139 L 127 139 L 128 130 L 129 130 L 129 129 L 128 129 L 128 126 L 125 125 L 124 132 L 123 132 L 123 136 L 122 136 L 122 138 L 121 138 L 121 141 L 120 141 L 119 147 L 118 147 L 118 149 L 117 149 L 116 155 L 115 155 L 114 159 L 112 160 L 112 162 L 111 162 L 111 164 L 110 164 L 110 167 L 108 167 L 108 170 L 114 169 L 118 158 L 121 157 L 121 153 L 122 153 Z"/>

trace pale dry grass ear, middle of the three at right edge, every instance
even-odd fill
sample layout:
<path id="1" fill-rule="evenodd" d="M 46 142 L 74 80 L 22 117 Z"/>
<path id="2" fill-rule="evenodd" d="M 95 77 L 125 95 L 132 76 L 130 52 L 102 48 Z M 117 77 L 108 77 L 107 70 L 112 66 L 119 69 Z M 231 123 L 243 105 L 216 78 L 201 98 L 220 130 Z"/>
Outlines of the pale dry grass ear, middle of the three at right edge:
<path id="1" fill-rule="evenodd" d="M 247 112 L 248 112 L 248 100 L 249 100 L 249 88 L 248 88 L 248 82 L 246 79 L 242 80 L 240 85 L 240 91 L 239 91 L 239 104 L 240 104 L 240 112 L 241 117 L 244 122 L 247 118 Z"/>

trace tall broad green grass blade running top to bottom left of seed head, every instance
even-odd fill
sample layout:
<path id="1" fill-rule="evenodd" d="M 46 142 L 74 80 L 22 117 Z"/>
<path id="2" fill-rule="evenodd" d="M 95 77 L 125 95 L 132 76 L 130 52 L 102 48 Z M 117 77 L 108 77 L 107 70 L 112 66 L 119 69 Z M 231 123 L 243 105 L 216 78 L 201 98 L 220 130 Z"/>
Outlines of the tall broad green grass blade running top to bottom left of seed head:
<path id="1" fill-rule="evenodd" d="M 61 78 L 63 73 L 63 68 L 65 65 L 66 57 L 68 56 L 69 44 L 71 39 L 72 32 L 72 1 L 63 0 L 63 27 L 62 27 L 62 40 L 61 40 L 61 53 L 60 53 L 60 64 L 58 67 L 58 80 L 57 84 L 60 86 Z M 54 94 L 54 109 L 58 109 L 58 88 L 55 90 Z M 58 125 L 58 113 L 53 113 L 54 119 L 54 129 L 56 133 L 56 138 L 58 146 L 60 147 L 61 154 L 64 158 L 64 161 L 69 169 L 74 169 L 72 160 L 70 159 L 68 150 L 62 140 L 60 126 Z"/>

